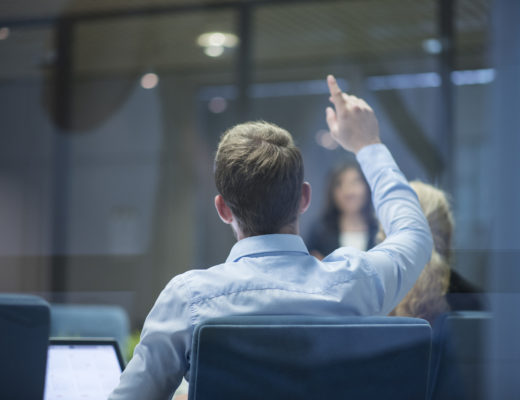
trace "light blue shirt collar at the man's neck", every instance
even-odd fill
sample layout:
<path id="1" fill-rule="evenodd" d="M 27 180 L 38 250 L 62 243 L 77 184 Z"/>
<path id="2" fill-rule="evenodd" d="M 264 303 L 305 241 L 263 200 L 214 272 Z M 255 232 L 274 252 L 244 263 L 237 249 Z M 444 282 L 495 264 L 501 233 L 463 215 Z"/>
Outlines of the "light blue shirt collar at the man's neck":
<path id="1" fill-rule="evenodd" d="M 238 261 L 242 257 L 275 252 L 309 254 L 307 246 L 305 246 L 300 236 L 277 233 L 273 235 L 250 236 L 239 240 L 231 249 L 226 262 Z"/>

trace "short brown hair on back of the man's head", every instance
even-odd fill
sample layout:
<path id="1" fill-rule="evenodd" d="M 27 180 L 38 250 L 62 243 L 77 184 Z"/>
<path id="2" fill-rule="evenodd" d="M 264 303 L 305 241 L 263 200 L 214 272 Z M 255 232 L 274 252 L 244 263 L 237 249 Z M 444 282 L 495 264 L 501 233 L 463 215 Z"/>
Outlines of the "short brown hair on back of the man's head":
<path id="1" fill-rule="evenodd" d="M 215 183 L 244 235 L 278 233 L 298 216 L 303 159 L 285 129 L 247 122 L 222 135 Z"/>

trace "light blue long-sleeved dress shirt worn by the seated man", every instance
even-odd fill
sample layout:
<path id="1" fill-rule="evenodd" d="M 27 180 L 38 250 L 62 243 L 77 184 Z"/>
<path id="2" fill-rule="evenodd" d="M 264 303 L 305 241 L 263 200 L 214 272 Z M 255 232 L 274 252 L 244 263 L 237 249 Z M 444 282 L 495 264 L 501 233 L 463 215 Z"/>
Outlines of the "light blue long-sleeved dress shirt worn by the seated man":
<path id="1" fill-rule="evenodd" d="M 226 262 L 174 277 L 146 318 L 141 342 L 110 399 L 170 399 L 189 378 L 194 327 L 236 314 L 386 315 L 412 288 L 432 251 L 414 191 L 382 144 L 357 154 L 386 240 L 322 261 L 297 235 L 237 242 Z"/>

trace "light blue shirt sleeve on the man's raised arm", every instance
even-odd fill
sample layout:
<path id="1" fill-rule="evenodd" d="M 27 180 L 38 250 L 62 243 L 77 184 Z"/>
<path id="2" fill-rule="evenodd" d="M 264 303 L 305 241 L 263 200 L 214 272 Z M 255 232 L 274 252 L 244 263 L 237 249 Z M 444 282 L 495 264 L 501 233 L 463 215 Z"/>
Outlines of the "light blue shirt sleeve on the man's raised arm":
<path id="1" fill-rule="evenodd" d="M 374 208 L 387 236 L 364 255 L 379 280 L 379 311 L 386 315 L 413 287 L 430 260 L 432 237 L 417 195 L 386 146 L 366 146 L 358 152 L 357 159 L 372 190 Z"/>

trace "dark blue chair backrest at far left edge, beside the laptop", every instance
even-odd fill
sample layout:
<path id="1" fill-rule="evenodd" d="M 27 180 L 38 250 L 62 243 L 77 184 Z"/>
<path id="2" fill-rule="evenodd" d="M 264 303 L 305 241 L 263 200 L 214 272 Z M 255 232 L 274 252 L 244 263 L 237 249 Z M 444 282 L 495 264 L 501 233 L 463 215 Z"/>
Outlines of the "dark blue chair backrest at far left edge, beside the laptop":
<path id="1" fill-rule="evenodd" d="M 49 342 L 49 304 L 0 294 L 0 398 L 42 399 Z"/>

